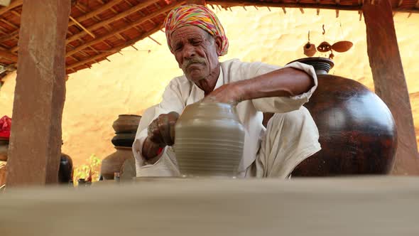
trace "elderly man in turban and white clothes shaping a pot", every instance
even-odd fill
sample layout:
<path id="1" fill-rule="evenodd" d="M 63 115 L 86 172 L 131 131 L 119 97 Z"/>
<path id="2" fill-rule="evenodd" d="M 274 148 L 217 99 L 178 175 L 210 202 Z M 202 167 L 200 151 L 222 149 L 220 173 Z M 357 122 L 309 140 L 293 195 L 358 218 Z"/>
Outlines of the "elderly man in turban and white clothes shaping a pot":
<path id="1" fill-rule="evenodd" d="M 137 176 L 180 175 L 170 131 L 185 106 L 200 100 L 236 104 L 246 130 L 239 176 L 287 178 L 320 150 L 317 127 L 303 107 L 317 87 L 311 66 L 220 63 L 229 42 L 217 16 L 205 6 L 170 11 L 165 34 L 184 75 L 171 80 L 162 102 L 143 114 L 133 144 Z M 275 113 L 267 129 L 262 112 Z"/>

